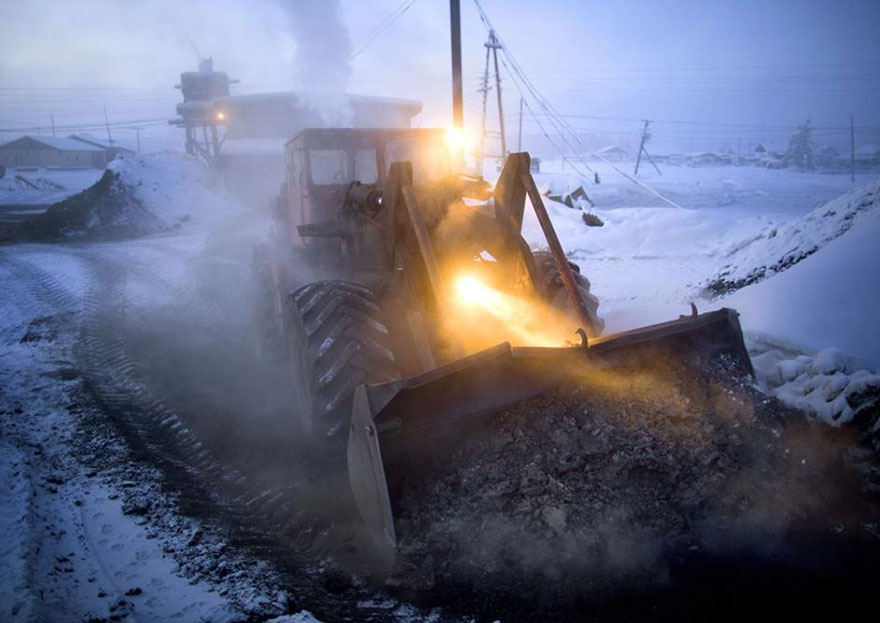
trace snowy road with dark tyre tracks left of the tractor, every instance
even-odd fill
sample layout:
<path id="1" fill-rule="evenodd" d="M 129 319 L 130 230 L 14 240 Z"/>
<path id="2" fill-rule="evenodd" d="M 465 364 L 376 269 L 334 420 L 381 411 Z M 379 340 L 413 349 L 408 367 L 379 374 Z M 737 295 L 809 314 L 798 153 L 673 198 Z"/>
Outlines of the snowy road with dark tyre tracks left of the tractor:
<path id="1" fill-rule="evenodd" d="M 293 419 L 247 353 L 247 245 L 215 242 L 0 247 L 3 620 L 415 615 L 339 599 L 267 527 Z"/>

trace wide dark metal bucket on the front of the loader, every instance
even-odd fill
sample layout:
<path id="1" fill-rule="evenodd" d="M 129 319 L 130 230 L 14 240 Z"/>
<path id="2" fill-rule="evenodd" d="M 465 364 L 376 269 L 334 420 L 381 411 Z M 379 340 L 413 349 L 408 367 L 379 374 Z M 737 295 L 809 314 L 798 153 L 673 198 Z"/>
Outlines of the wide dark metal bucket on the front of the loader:
<path id="1" fill-rule="evenodd" d="M 390 565 L 397 545 L 395 481 L 411 476 L 429 455 L 451 452 L 485 420 L 480 416 L 537 396 L 575 372 L 658 357 L 698 367 L 725 358 L 752 373 L 738 314 L 721 309 L 596 338 L 589 347 L 504 342 L 416 377 L 358 387 L 348 436 L 349 481 L 380 560 Z"/>

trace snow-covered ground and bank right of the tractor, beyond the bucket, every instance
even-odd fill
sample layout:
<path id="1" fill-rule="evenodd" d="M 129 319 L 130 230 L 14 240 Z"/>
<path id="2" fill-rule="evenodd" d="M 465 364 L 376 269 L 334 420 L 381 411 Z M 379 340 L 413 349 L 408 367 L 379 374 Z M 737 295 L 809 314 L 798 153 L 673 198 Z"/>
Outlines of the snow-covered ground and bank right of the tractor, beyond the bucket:
<path id="1" fill-rule="evenodd" d="M 592 166 L 598 186 L 554 162 L 542 163 L 551 172 L 536 177 L 554 193 L 583 184 L 596 202 L 580 207 L 603 227 L 586 227 L 580 210 L 561 203 L 548 208 L 563 247 L 592 282 L 607 332 L 675 318 L 691 301 L 701 310 L 733 307 L 759 380 L 792 406 L 838 423 L 854 413 L 846 396 L 876 392 L 877 175 L 853 184 L 845 175 L 664 166 L 662 177 L 640 176 L 678 209 L 607 165 Z M 541 244 L 533 215 L 524 229 Z M 812 358 L 826 349 L 838 354 L 820 371 Z"/>

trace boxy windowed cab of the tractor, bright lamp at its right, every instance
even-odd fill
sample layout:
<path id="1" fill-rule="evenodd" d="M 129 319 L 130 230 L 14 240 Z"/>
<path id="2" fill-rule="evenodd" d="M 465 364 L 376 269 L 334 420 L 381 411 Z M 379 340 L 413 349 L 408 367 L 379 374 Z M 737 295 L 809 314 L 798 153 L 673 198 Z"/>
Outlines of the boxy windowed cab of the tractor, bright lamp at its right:
<path id="1" fill-rule="evenodd" d="M 321 128 L 303 130 L 285 146 L 287 202 L 277 216 L 287 220 L 292 242 L 320 244 L 300 226 L 339 216 L 354 182 L 381 190 L 393 162 L 408 161 L 415 183 L 452 174 L 451 150 L 442 129 Z M 285 210 L 286 208 L 286 210 Z"/>

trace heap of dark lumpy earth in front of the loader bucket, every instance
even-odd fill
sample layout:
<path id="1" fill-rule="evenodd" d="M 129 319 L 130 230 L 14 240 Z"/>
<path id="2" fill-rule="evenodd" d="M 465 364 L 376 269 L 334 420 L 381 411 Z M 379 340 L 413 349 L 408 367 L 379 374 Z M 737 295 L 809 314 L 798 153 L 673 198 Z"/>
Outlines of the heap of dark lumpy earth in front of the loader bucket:
<path id="1" fill-rule="evenodd" d="M 804 537 L 867 538 L 876 555 L 866 526 L 880 515 L 853 443 L 749 382 L 593 375 L 498 415 L 403 483 L 392 584 L 504 620 L 626 620 L 656 616 L 660 594 L 673 609 L 671 596 L 693 598 L 693 578 L 680 576 L 695 560 L 724 560 L 729 583 L 734 568 L 772 575 L 780 552 L 822 555 L 793 545 Z M 642 597 L 619 601 L 633 592 Z"/>

